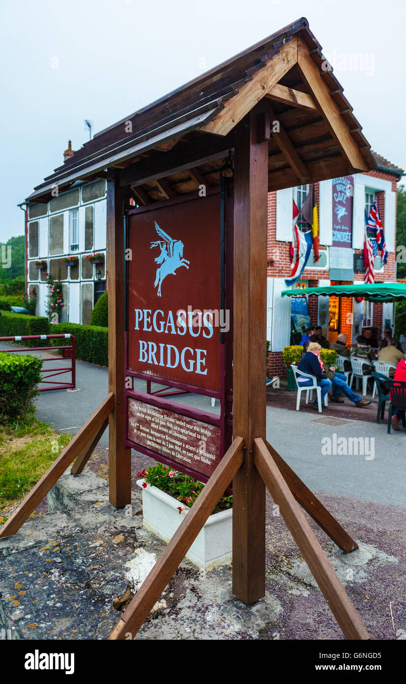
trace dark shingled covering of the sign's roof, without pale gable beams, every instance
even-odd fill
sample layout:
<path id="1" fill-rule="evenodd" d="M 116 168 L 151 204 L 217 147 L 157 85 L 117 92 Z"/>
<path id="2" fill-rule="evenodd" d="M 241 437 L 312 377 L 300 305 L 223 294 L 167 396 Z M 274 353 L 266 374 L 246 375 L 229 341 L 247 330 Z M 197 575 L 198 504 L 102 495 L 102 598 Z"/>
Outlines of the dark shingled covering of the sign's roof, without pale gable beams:
<path id="1" fill-rule="evenodd" d="M 325 69 L 327 62 L 323 57 L 321 46 L 310 31 L 306 18 L 300 18 L 278 33 L 265 38 L 193 81 L 189 81 L 185 86 L 100 131 L 94 135 L 93 140 L 86 142 L 75 152 L 75 155 L 56 168 L 53 174 L 47 176 L 44 183 L 38 185 L 27 200 L 45 202 L 51 198 L 51 189 L 55 185 L 58 186 L 59 192 L 64 192 L 79 180 L 103 177 L 103 172 L 107 168 L 115 166 L 124 168 L 139 160 L 145 162 L 145 157 L 150 154 L 165 155 L 167 150 L 174 145 L 182 146 L 185 141 L 198 135 L 208 135 L 202 129 L 209 122 L 213 122 L 229 101 L 239 94 L 242 86 L 252 81 L 256 72 L 267 66 L 271 57 L 278 55 L 282 47 L 292 41 L 295 36 L 301 38 L 308 47 L 310 56 L 332 100 L 336 103 L 342 120 L 347 124 L 355 146 L 362 155 L 365 168 L 376 169 L 377 163 L 371 154 L 370 145 L 362 134 L 360 124 L 353 116 L 351 105 L 342 94 L 342 86 L 330 68 Z M 311 92 L 301 75 L 298 64 L 290 68 L 288 73 L 280 79 L 280 85 L 308 94 Z M 304 163 L 320 162 L 322 165 L 324 161 L 334 159 L 342 161 L 342 150 L 334 135 L 331 135 L 331 129 L 319 107 L 314 107 L 312 110 L 303 109 L 291 107 L 286 101 L 276 100 L 272 102 L 272 109 L 282 122 L 284 131 Z M 128 122 L 131 122 L 131 126 Z M 213 133 L 210 135 L 213 137 Z M 289 184 L 297 185 L 295 182 L 297 174 L 292 175 L 292 168 L 290 168 L 292 165 L 289 166 L 286 155 L 282 154 L 280 146 L 273 141 L 272 137 L 269 141 L 269 155 L 269 177 L 270 179 L 275 177 L 274 183 L 270 180 L 269 189 L 287 187 Z M 215 166 L 212 169 L 207 167 L 205 171 L 215 173 L 218 167 L 218 164 L 217 169 Z M 316 169 L 316 165 L 312 168 Z M 323 166 L 321 168 L 322 171 L 325 170 Z M 280 173 L 272 174 L 275 171 Z M 290 173 L 290 175 L 285 174 L 286 179 L 285 175 L 282 176 L 284 171 Z M 324 175 L 322 172 L 319 177 L 311 180 L 336 176 L 343 172 L 351 172 L 348 163 L 347 166 L 341 164 L 337 173 L 325 170 Z M 215 176 L 211 180 L 214 184 Z M 176 179 L 172 179 L 172 182 L 176 184 Z M 185 192 L 190 191 L 189 185 L 185 188 Z M 154 195 L 152 187 L 148 184 L 144 186 L 144 191 L 149 194 L 151 201 L 161 198 L 160 194 Z"/>

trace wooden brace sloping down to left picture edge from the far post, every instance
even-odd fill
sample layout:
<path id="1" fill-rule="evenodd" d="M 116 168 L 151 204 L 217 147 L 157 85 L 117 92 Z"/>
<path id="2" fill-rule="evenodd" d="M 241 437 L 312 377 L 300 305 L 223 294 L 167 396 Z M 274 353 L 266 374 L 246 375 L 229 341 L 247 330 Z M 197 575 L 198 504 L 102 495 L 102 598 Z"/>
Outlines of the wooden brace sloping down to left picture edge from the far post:
<path id="1" fill-rule="evenodd" d="M 77 455 L 82 451 L 90 438 L 94 436 L 94 433 L 100 429 L 100 426 L 105 423 L 106 418 L 109 413 L 113 410 L 113 394 L 110 393 L 105 398 L 104 402 L 96 409 L 94 414 L 90 417 L 88 421 L 85 422 L 83 427 L 75 434 L 72 441 L 64 448 L 64 451 L 60 453 L 58 458 L 53 462 L 51 467 L 42 475 L 36 486 L 31 489 L 31 492 L 27 494 L 25 499 L 21 501 L 21 504 L 14 511 L 14 513 L 8 518 L 7 523 L 3 525 L 0 531 L 0 538 L 8 537 L 11 534 L 15 534 L 21 525 L 25 523 L 28 516 L 36 510 L 38 503 L 42 501 L 44 496 L 48 494 L 49 490 L 54 486 L 55 482 L 61 477 L 61 475 L 66 471 L 68 466 L 72 463 Z"/>

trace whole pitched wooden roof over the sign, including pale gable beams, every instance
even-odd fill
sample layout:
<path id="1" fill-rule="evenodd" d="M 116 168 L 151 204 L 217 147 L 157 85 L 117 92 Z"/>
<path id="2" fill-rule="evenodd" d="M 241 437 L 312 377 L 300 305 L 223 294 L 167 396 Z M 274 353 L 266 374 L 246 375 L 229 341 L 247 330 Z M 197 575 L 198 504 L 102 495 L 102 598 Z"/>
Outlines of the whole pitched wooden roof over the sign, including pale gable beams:
<path id="1" fill-rule="evenodd" d="M 55 185 L 64 192 L 111 168 L 123 170 L 120 183 L 131 185 L 140 205 L 201 183 L 218 185 L 233 130 L 259 101 L 267 103 L 269 191 L 377 168 L 342 86 L 301 18 L 97 133 L 27 201 L 46 202 Z"/>

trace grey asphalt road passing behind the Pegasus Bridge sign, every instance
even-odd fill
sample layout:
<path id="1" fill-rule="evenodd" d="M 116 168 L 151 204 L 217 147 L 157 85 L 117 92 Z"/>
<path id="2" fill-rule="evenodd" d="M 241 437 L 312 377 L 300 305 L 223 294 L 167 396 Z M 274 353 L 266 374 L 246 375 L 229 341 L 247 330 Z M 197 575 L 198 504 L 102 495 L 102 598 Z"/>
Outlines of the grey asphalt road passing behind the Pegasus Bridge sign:
<path id="1" fill-rule="evenodd" d="M 36 399 L 38 419 L 76 434 L 107 395 L 107 369 L 77 361 L 77 387 L 76 392 L 42 392 Z M 137 381 L 137 387 L 145 391 L 145 382 Z M 218 402 L 212 409 L 209 397 L 181 395 L 172 401 L 219 412 Z M 267 438 L 312 490 L 406 508 L 405 430 L 388 435 L 385 424 L 341 420 L 330 425 L 331 418 L 334 405 L 323 416 L 267 406 Z M 358 453 L 348 453 L 351 445 L 355 451 L 349 440 L 358 438 Z M 100 444 L 108 444 L 107 430 Z"/>

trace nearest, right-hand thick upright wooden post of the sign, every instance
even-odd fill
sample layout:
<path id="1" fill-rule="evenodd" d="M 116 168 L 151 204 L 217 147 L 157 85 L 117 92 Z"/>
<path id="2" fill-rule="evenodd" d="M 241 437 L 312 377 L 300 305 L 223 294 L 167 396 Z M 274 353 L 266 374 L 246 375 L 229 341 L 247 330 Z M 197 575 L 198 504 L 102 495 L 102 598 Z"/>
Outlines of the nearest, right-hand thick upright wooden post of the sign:
<path id="1" fill-rule="evenodd" d="M 236 129 L 234 155 L 233 432 L 244 462 L 232 482 L 232 592 L 244 603 L 265 596 L 265 484 L 253 449 L 266 424 L 268 142 L 258 142 L 257 116 Z"/>

